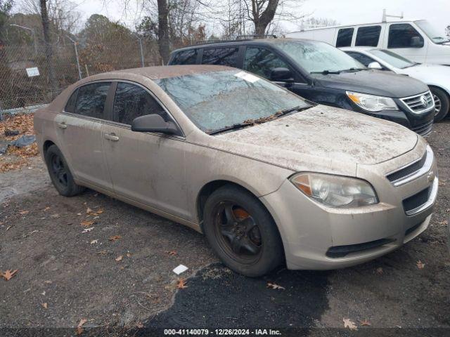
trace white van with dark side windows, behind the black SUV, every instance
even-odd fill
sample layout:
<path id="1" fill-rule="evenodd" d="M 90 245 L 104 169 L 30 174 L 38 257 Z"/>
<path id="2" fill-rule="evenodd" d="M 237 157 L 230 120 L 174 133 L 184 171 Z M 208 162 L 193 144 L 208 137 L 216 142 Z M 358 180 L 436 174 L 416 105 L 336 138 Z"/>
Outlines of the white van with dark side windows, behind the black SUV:
<path id="1" fill-rule="evenodd" d="M 450 40 L 427 20 L 304 29 L 285 35 L 324 41 L 338 48 L 368 46 L 390 49 L 415 62 L 450 65 Z"/>

